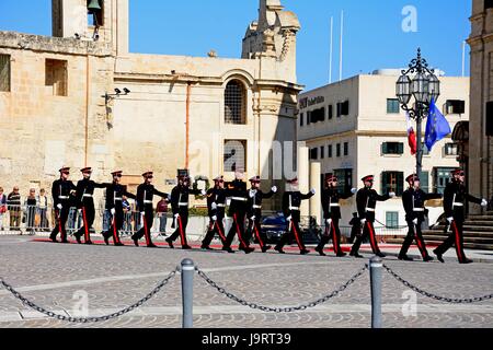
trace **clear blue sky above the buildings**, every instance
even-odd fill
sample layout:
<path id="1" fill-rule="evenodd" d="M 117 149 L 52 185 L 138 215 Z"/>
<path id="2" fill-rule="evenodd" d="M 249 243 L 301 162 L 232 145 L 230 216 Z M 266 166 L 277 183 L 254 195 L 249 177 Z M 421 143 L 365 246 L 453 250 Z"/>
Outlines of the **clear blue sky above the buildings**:
<path id="1" fill-rule="evenodd" d="M 334 16 L 333 80 L 339 79 L 339 27 L 345 12 L 343 78 L 406 66 L 422 47 L 433 67 L 460 75 L 462 42 L 470 32 L 471 0 L 282 0 L 298 14 L 298 80 L 307 89 L 329 81 L 330 18 Z M 0 30 L 50 35 L 50 0 L 0 0 Z M 402 31 L 413 5 L 417 32 Z M 259 0 L 130 0 L 130 51 L 240 57 Z M 466 74 L 469 74 L 469 46 Z"/>

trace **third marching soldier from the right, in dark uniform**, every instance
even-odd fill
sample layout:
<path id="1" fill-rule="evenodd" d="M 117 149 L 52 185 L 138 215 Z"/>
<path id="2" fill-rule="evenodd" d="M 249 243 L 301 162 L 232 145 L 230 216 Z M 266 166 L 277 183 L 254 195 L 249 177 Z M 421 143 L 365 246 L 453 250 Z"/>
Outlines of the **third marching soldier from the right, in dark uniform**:
<path id="1" fill-rule="evenodd" d="M 394 192 L 390 192 L 389 195 L 380 196 L 377 194 L 374 187 L 374 176 L 368 175 L 362 178 L 365 187 L 359 189 L 356 195 L 356 203 L 358 208 L 359 220 L 362 222 L 363 234 L 356 238 L 356 242 L 351 249 L 351 256 L 363 258 L 359 255 L 359 247 L 366 237 L 369 236 L 371 250 L 375 255 L 383 258 L 386 255 L 380 252 L 377 243 L 377 235 L 375 234 L 374 222 L 375 222 L 375 208 L 377 207 L 377 201 L 386 201 L 390 198 L 395 197 Z"/>

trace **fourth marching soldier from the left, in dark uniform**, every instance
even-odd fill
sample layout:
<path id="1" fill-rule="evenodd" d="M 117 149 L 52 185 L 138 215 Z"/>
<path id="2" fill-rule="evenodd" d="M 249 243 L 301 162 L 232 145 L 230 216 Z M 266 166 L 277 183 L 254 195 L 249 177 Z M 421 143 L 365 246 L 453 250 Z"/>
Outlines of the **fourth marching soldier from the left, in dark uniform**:
<path id="1" fill-rule="evenodd" d="M 169 198 L 168 194 L 161 192 L 152 185 L 154 178 L 153 172 L 147 172 L 142 174 L 144 184 L 137 187 L 137 207 L 140 211 L 140 218 L 144 222 L 144 226 L 131 236 L 134 244 L 138 247 L 139 240 L 146 236 L 146 244 L 149 248 L 156 248 L 156 244 L 152 243 L 150 235 L 152 223 L 154 221 L 153 197 L 160 196 L 162 198 Z"/>

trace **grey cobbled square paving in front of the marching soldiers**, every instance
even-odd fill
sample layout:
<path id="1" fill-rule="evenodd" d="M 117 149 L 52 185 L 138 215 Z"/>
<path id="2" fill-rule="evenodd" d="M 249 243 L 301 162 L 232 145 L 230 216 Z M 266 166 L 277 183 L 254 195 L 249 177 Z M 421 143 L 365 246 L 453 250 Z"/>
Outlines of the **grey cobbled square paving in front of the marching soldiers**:
<path id="1" fill-rule="evenodd" d="M 129 244 L 128 242 L 126 244 Z M 385 249 L 383 249 L 385 250 Z M 340 288 L 367 259 L 318 255 L 185 252 L 114 246 L 61 245 L 26 236 L 0 236 L 0 277 L 36 304 L 73 315 L 87 295 L 89 315 L 110 314 L 150 292 L 185 258 L 192 258 L 219 285 L 249 302 L 285 307 L 308 304 Z M 369 258 L 370 255 L 366 254 Z M 417 287 L 444 296 L 470 298 L 493 293 L 491 264 L 458 265 L 385 260 Z M 87 294 L 85 294 L 87 293 Z M 416 296 L 383 272 L 383 326 L 405 328 L 493 327 L 493 301 L 448 304 Z M 404 299 L 403 299 L 404 296 Z M 329 302 L 295 313 L 263 313 L 219 294 L 194 278 L 195 327 L 347 328 L 370 326 L 369 273 Z M 403 311 L 405 313 L 403 313 Z M 22 305 L 0 288 L 0 327 L 181 327 L 180 275 L 136 311 L 99 324 L 68 324 Z"/>

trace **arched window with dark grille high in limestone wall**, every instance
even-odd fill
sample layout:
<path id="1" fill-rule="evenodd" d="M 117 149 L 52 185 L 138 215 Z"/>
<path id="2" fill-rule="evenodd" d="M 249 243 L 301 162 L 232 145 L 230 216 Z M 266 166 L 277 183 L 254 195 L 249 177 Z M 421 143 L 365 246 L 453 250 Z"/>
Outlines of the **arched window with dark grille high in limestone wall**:
<path id="1" fill-rule="evenodd" d="M 225 122 L 246 124 L 246 91 L 242 82 L 232 80 L 225 91 Z"/>

